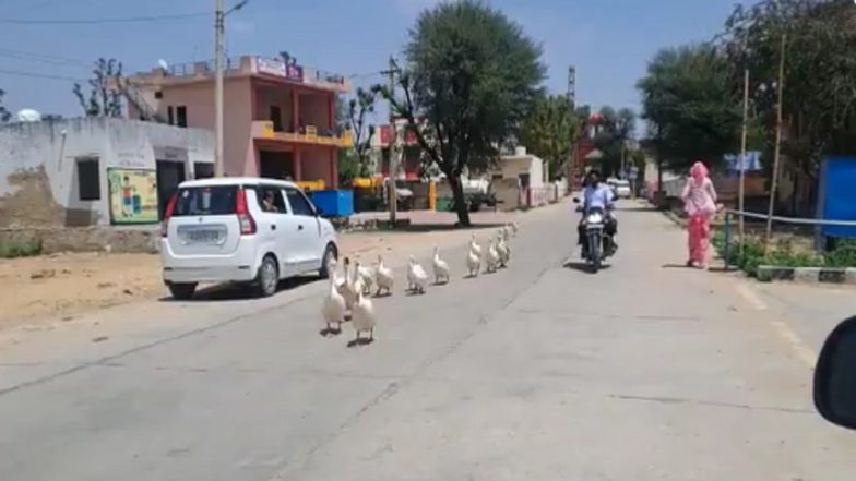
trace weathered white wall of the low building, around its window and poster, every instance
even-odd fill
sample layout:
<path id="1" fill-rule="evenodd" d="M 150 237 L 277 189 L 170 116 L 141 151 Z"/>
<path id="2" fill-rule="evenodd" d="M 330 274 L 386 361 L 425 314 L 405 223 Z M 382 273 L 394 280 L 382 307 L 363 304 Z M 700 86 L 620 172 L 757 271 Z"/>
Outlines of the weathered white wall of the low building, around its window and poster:
<path id="1" fill-rule="evenodd" d="M 176 157 L 163 158 L 165 153 Z M 98 159 L 100 199 L 97 201 L 80 200 L 76 159 L 82 157 Z M 2 125 L 0 230 L 7 237 L 11 231 L 24 236 L 22 231 L 34 229 L 146 230 L 146 227 L 110 226 L 107 169 L 155 170 L 156 157 L 183 164 L 186 177 L 190 178 L 193 164 L 213 160 L 212 134 L 122 119 L 84 118 Z M 99 235 L 83 237 L 97 240 Z"/>

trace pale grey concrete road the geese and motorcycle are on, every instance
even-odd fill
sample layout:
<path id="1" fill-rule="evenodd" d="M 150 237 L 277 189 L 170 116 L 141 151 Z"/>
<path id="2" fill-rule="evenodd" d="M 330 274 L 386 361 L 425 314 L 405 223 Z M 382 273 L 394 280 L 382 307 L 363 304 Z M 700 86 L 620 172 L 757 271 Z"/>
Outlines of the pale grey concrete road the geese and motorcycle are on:
<path id="1" fill-rule="evenodd" d="M 851 480 L 856 432 L 810 402 L 819 298 L 676 267 L 628 207 L 597 276 L 549 207 L 509 269 L 376 301 L 365 348 L 319 336 L 314 284 L 2 350 L 0 479 Z"/>

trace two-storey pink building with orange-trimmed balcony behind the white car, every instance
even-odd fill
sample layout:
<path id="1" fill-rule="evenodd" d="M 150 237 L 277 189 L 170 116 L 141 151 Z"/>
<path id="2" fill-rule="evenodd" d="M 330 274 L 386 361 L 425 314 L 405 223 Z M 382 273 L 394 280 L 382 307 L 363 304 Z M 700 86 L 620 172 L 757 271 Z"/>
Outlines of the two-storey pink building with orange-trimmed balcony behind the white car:
<path id="1" fill-rule="evenodd" d="M 129 116 L 214 130 L 212 62 L 157 68 L 128 79 Z M 342 75 L 243 56 L 228 59 L 224 80 L 226 176 L 337 184 L 337 151 L 352 145 L 336 130 L 336 97 L 348 92 Z"/>

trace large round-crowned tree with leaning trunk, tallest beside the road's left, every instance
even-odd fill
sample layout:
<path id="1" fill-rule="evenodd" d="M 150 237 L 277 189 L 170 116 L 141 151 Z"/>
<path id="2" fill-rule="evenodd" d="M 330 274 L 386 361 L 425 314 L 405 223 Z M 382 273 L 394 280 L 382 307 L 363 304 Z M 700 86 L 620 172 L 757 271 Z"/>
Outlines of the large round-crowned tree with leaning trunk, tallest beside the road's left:
<path id="1" fill-rule="evenodd" d="M 447 176 L 461 226 L 469 225 L 461 175 L 494 161 L 519 132 L 540 92 L 540 53 L 498 10 L 478 0 L 444 2 L 423 11 L 409 33 L 396 81 L 403 98 L 374 87 L 406 119 L 426 161 Z"/>

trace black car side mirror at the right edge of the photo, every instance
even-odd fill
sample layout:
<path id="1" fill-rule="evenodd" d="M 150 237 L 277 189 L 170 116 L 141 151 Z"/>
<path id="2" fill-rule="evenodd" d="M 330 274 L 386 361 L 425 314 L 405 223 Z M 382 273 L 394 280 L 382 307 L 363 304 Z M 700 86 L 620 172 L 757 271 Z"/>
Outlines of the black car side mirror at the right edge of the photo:
<path id="1" fill-rule="evenodd" d="M 856 430 L 856 316 L 839 324 L 815 369 L 815 407 L 827 421 Z"/>

